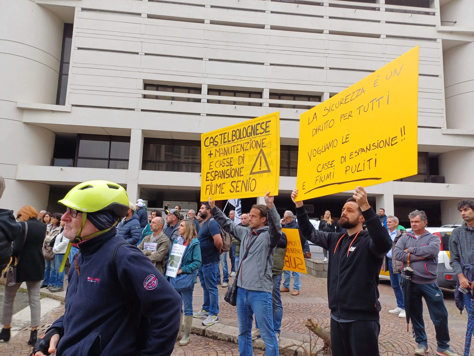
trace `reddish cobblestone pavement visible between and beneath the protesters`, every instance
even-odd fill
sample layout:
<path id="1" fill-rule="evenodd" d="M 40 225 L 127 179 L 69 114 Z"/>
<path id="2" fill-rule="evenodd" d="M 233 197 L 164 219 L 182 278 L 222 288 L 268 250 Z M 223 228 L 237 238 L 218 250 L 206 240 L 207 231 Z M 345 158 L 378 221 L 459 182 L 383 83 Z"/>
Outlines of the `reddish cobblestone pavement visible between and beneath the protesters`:
<path id="1" fill-rule="evenodd" d="M 229 263 L 230 266 L 230 263 Z M 234 279 L 230 278 L 232 283 Z M 308 329 L 304 326 L 308 318 L 316 320 L 323 327 L 329 325 L 329 309 L 327 300 L 326 279 L 317 278 L 310 275 L 301 275 L 301 292 L 299 296 L 292 297 L 290 293 L 282 293 L 283 300 L 283 321 L 282 337 L 289 337 L 297 340 L 309 341 Z M 292 285 L 291 288 L 292 289 Z M 224 300 L 224 293 L 227 288 L 219 286 L 219 319 L 220 323 L 238 326 L 237 312 L 235 307 L 230 306 Z M 393 295 L 390 283 L 382 282 L 379 286 L 380 301 L 382 311 L 380 313 L 381 332 L 379 337 L 380 353 L 382 356 L 406 356 L 414 355 L 413 350 L 416 344 L 410 332 L 406 331 L 405 319 L 388 313 L 388 310 L 396 307 L 396 300 Z M 445 303 L 449 315 L 449 332 L 451 348 L 462 355 L 464 352 L 465 328 L 467 317 L 465 313 L 459 314 L 454 303 L 454 293 L 443 290 Z M 194 310 L 199 310 L 202 304 L 202 289 L 198 282 L 194 287 L 193 294 Z M 62 313 L 64 307 L 61 306 L 53 313 L 42 320 L 39 335 L 43 335 L 46 328 Z M 428 309 L 424 304 L 424 318 L 428 343 L 432 350 L 436 350 L 436 338 L 433 323 L 429 319 Z M 20 356 L 29 355 L 31 348 L 27 346 L 29 328 L 24 328 L 9 343 L 0 343 L 0 356 Z M 185 347 L 176 346 L 173 355 L 219 355 L 231 356 L 238 354 L 238 347 L 235 344 L 212 340 L 206 337 L 193 335 L 191 344 Z M 322 344 L 320 340 L 317 342 Z M 261 354 L 255 350 L 255 354 Z M 434 355 L 434 351 L 432 351 Z"/>

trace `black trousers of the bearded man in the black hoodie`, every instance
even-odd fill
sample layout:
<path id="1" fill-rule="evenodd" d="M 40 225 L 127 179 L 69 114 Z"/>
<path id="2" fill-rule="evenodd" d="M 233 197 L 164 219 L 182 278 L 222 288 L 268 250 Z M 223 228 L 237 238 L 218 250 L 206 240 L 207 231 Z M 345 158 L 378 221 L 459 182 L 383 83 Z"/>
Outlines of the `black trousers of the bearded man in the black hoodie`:
<path id="1" fill-rule="evenodd" d="M 379 356 L 379 320 L 339 323 L 331 318 L 333 356 Z"/>

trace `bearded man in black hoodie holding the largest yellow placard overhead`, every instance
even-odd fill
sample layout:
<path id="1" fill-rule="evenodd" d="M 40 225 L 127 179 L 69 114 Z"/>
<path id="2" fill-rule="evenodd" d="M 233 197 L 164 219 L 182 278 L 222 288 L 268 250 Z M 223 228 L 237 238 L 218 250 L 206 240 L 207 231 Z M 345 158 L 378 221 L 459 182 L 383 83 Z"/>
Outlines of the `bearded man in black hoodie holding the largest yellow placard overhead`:
<path id="1" fill-rule="evenodd" d="M 297 197 L 298 189 L 294 189 L 293 202 Z M 339 222 L 346 233 L 316 230 L 303 202 L 295 205 L 303 237 L 328 250 L 332 354 L 378 356 L 381 306 L 377 286 L 383 256 L 392 247 L 392 239 L 370 207 L 367 193 L 356 187 L 344 204 Z M 362 229 L 364 222 L 367 230 Z"/>

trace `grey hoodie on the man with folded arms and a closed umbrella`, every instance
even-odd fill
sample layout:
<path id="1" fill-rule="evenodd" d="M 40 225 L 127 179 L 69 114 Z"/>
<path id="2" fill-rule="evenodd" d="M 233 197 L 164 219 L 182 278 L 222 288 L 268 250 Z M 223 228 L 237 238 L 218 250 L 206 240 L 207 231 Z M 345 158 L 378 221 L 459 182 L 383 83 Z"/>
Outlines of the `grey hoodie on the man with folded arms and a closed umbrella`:
<path id="1" fill-rule="evenodd" d="M 403 268 L 407 265 L 408 252 L 410 266 L 413 268 L 411 281 L 418 284 L 436 283 L 438 279 L 439 237 L 425 231 L 420 237 L 415 237 L 412 231 L 403 233 L 395 245 L 395 259 L 403 262 L 401 276 L 406 278 Z M 403 250 L 408 249 L 408 252 Z M 424 257 L 419 260 L 418 257 Z"/>

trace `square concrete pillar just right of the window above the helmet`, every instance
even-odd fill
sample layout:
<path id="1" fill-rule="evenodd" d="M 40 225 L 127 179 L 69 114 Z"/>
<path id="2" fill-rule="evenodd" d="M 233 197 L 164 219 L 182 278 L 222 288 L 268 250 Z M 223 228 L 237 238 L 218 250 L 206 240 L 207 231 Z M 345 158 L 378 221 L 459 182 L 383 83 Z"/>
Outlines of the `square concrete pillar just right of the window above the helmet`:
<path id="1" fill-rule="evenodd" d="M 130 155 L 128 158 L 127 171 L 127 194 L 128 200 L 135 203 L 140 197 L 138 185 L 138 172 L 142 169 L 143 159 L 143 132 L 141 129 L 132 129 L 130 135 Z"/>

